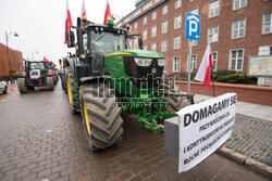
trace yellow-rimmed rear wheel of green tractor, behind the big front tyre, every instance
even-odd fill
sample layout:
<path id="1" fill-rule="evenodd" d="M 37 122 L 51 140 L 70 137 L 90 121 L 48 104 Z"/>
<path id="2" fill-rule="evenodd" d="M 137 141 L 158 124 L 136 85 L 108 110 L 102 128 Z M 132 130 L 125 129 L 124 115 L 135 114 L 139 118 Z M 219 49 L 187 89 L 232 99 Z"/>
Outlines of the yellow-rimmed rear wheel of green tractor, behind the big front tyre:
<path id="1" fill-rule="evenodd" d="M 75 88 L 75 77 L 73 75 L 73 70 L 71 67 L 66 68 L 66 86 L 67 86 L 67 98 L 70 103 L 70 109 L 72 113 L 78 113 L 79 104 L 76 95 L 76 88 Z"/>

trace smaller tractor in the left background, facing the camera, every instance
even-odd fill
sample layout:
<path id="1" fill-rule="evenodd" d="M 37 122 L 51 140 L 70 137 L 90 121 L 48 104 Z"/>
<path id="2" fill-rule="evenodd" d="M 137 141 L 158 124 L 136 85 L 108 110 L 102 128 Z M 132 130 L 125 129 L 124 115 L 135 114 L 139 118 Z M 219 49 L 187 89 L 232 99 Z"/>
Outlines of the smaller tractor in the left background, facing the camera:
<path id="1" fill-rule="evenodd" d="M 34 90 L 35 87 L 46 86 L 49 90 L 54 89 L 52 70 L 47 68 L 44 61 L 25 61 L 24 72 L 17 78 L 17 88 L 21 93 Z"/>

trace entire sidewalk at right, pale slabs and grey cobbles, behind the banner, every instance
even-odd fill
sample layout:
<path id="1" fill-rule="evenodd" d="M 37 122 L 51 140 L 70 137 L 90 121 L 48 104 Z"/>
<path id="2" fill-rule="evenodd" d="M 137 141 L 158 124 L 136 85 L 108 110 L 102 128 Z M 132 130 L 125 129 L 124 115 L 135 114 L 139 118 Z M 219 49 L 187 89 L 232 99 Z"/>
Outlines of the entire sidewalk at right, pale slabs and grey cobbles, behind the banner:
<path id="1" fill-rule="evenodd" d="M 195 102 L 211 98 L 196 94 Z M 238 101 L 236 114 L 233 133 L 224 146 L 271 167 L 272 106 Z"/>

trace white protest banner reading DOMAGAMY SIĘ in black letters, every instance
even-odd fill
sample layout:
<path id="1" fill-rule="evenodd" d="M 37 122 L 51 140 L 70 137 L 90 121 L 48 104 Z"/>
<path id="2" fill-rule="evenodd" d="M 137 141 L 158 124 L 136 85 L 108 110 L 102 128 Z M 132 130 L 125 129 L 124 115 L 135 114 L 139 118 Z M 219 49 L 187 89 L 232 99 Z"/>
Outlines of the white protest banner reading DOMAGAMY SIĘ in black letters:
<path id="1" fill-rule="evenodd" d="M 178 172 L 189 170 L 227 140 L 235 121 L 236 102 L 236 93 L 226 93 L 177 112 Z"/>

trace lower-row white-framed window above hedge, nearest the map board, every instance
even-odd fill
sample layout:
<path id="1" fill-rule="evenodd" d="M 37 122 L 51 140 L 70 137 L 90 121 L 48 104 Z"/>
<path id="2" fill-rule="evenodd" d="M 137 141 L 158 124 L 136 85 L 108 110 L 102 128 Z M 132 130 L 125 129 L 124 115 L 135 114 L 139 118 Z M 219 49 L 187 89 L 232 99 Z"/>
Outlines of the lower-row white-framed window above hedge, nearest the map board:
<path id="1" fill-rule="evenodd" d="M 232 70 L 242 70 L 244 62 L 244 50 L 232 50 L 231 51 L 231 62 L 230 69 Z"/>

